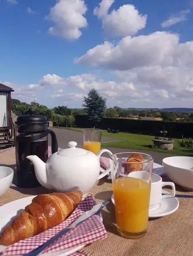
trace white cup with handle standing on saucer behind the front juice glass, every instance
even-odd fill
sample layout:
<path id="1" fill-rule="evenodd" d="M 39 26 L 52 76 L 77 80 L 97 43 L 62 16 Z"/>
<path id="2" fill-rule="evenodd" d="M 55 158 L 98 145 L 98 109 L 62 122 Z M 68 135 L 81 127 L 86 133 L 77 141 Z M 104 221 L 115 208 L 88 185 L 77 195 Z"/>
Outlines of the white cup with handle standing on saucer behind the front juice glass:
<path id="1" fill-rule="evenodd" d="M 172 192 L 162 195 L 163 186 L 171 186 Z M 153 173 L 151 182 L 150 204 L 149 208 L 155 207 L 162 199 L 175 197 L 175 184 L 173 182 L 162 182 L 162 177 Z"/>

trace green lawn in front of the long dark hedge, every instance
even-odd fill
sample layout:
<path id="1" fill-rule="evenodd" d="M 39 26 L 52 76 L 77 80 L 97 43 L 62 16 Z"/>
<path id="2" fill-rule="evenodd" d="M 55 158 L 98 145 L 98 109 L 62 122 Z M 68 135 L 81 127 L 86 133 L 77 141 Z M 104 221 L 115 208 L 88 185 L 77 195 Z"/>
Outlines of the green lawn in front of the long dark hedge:
<path id="1" fill-rule="evenodd" d="M 75 130 L 78 132 L 82 132 L 83 128 L 69 128 L 69 127 L 57 127 L 61 129 L 67 130 Z M 187 148 L 182 148 L 178 145 L 179 139 L 174 140 L 174 149 L 173 150 L 161 150 L 158 148 L 151 148 L 150 145 L 153 144 L 152 139 L 153 136 L 149 135 L 140 135 L 140 134 L 133 134 L 133 133 L 126 133 L 126 132 L 119 132 L 118 134 L 108 133 L 107 131 L 103 130 L 102 136 L 115 138 L 120 141 L 115 142 L 107 142 L 103 143 L 103 147 L 105 148 L 132 148 L 132 149 L 141 149 L 141 150 L 150 150 L 155 152 L 164 152 L 164 153 L 171 153 L 176 155 L 187 155 L 193 156 L 193 150 L 189 150 Z"/>

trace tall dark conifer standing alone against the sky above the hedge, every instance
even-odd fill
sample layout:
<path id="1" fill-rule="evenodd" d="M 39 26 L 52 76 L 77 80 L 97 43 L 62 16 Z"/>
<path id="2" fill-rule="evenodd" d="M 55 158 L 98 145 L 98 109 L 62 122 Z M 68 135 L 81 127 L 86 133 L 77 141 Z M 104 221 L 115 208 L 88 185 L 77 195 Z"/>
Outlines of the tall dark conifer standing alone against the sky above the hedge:
<path id="1" fill-rule="evenodd" d="M 106 99 L 103 98 L 95 89 L 91 89 L 87 97 L 83 99 L 83 107 L 88 111 L 88 118 L 95 127 L 100 123 L 106 111 Z"/>

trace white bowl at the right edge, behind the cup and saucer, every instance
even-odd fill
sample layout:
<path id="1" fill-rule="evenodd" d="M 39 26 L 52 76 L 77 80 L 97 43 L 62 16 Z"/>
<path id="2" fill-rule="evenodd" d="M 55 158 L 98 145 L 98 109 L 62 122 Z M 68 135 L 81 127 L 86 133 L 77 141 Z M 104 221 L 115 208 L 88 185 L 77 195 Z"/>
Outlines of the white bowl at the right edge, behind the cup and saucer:
<path id="1" fill-rule="evenodd" d="M 193 157 L 166 157 L 163 160 L 166 175 L 185 190 L 193 190 Z"/>

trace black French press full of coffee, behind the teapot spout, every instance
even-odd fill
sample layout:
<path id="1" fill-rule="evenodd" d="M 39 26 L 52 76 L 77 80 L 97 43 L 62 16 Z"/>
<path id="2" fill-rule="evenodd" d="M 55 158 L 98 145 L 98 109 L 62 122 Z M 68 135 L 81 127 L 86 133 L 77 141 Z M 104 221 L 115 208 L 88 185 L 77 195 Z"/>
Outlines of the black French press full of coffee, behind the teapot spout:
<path id="1" fill-rule="evenodd" d="M 36 178 L 34 165 L 28 155 L 37 155 L 43 162 L 48 158 L 48 138 L 52 138 L 52 154 L 58 151 L 58 141 L 52 130 L 48 129 L 47 118 L 35 115 L 34 108 L 29 115 L 19 116 L 16 121 L 16 172 L 14 181 L 20 188 L 41 186 Z"/>

